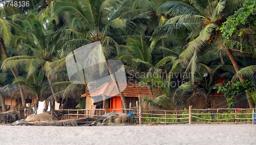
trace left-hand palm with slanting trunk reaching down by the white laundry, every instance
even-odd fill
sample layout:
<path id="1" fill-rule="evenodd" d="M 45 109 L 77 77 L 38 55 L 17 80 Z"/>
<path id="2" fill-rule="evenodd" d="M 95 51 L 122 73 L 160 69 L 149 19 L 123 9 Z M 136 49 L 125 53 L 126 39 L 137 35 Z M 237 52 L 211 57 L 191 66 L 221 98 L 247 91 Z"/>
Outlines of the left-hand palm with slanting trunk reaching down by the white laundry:
<path id="1" fill-rule="evenodd" d="M 40 13 L 39 13 L 40 14 Z M 52 31 L 47 31 L 44 25 L 51 27 L 52 23 L 44 23 L 40 19 L 41 15 L 35 15 L 33 12 L 28 14 L 25 20 L 19 20 L 22 22 L 21 28 L 23 33 L 19 36 L 14 36 L 13 43 L 17 45 L 18 50 L 22 53 L 20 56 L 12 56 L 3 62 L 2 69 L 15 68 L 17 66 L 25 66 L 27 70 L 27 79 L 29 79 L 34 73 L 41 68 L 44 75 L 47 76 L 49 84 L 51 84 L 50 78 L 50 66 L 54 57 L 58 54 L 58 46 L 54 42 L 55 39 L 51 39 Z M 20 43 L 22 42 L 22 43 Z M 17 77 L 15 77 L 17 78 Z M 20 86 L 21 88 L 21 86 Z M 54 94 L 53 88 L 51 88 Z"/>

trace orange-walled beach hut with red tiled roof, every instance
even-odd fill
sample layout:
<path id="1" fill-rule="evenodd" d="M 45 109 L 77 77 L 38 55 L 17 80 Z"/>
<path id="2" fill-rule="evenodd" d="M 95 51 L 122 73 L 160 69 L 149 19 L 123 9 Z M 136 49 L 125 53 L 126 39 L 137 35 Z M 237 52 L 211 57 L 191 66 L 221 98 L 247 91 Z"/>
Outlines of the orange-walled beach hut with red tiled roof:
<path id="1" fill-rule="evenodd" d="M 124 83 L 118 83 L 119 85 L 124 85 Z M 93 105 L 96 105 L 96 108 L 104 108 L 106 111 L 111 112 L 113 109 L 123 108 L 121 97 L 118 93 L 115 83 L 113 81 L 106 82 L 99 86 L 98 88 L 92 90 L 94 96 L 90 95 L 90 92 L 83 94 L 81 97 L 86 97 L 86 108 L 91 109 Z M 139 101 L 140 96 L 148 96 L 152 98 L 150 91 L 147 86 L 137 86 L 135 82 L 126 82 L 126 89 L 122 91 L 127 107 L 136 107 Z M 114 97 L 112 97 L 114 96 Z M 103 99 L 109 98 L 109 99 Z M 97 101 L 97 100 L 103 101 Z M 97 103 L 95 103 L 97 102 Z M 137 103 L 136 103 L 137 102 Z M 115 110 L 115 112 L 121 112 L 121 110 Z"/>

